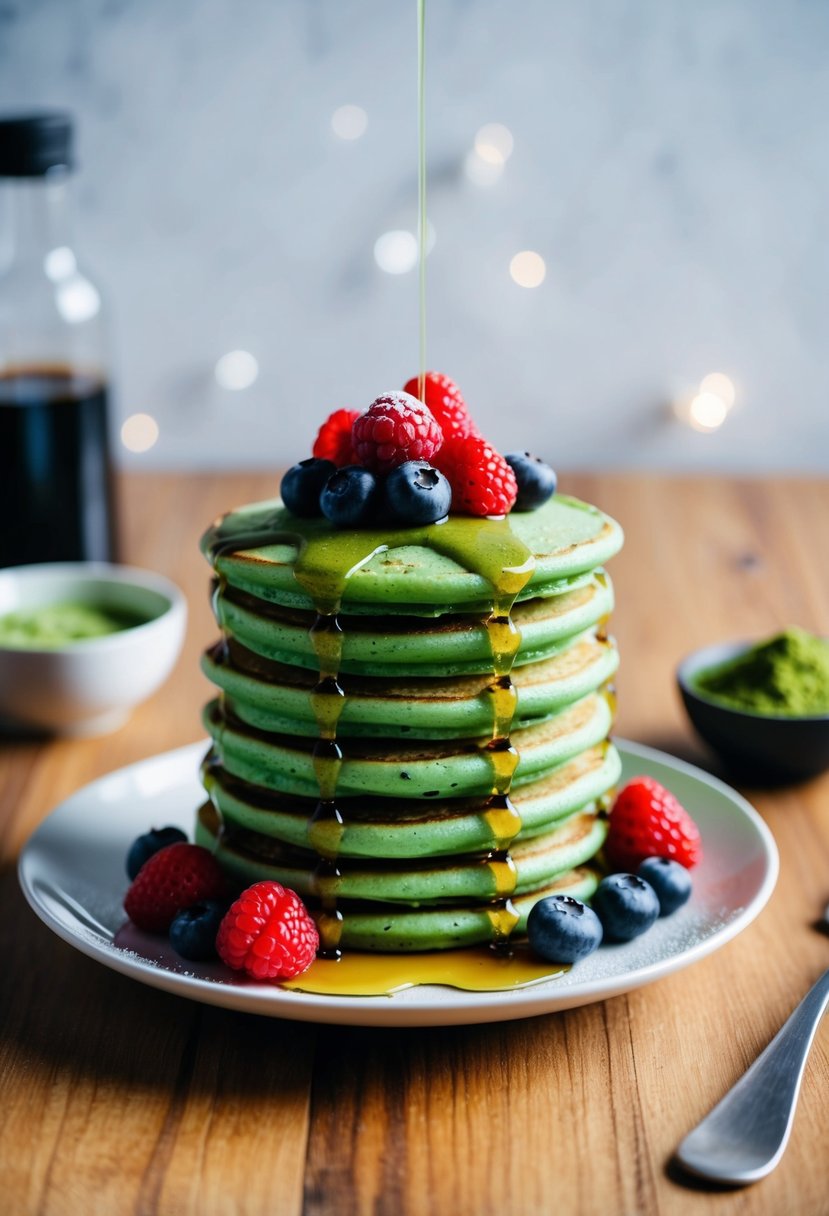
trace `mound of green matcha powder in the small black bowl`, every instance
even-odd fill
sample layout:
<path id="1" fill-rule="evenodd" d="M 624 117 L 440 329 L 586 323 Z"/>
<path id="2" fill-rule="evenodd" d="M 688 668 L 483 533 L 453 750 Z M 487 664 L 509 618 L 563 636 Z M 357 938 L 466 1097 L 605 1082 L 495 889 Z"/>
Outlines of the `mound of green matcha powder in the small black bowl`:
<path id="1" fill-rule="evenodd" d="M 750 714 L 829 714 L 829 642 L 803 629 L 786 629 L 735 659 L 700 671 L 692 686 L 703 697 Z"/>

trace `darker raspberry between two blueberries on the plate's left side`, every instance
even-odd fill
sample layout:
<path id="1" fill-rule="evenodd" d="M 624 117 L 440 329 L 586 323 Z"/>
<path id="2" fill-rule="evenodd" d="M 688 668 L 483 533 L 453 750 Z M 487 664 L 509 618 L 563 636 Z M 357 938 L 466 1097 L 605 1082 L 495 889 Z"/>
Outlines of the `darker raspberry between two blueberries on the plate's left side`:
<path id="1" fill-rule="evenodd" d="M 209 849 L 170 844 L 145 861 L 124 908 L 139 929 L 167 933 L 176 912 L 202 900 L 220 900 L 224 894 L 225 876 Z"/>

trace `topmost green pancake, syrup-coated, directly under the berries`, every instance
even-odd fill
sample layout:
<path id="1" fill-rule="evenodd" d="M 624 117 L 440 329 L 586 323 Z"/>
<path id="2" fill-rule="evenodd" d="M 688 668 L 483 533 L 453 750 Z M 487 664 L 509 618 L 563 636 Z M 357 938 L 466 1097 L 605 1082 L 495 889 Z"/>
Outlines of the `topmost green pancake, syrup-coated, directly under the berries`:
<path id="1" fill-rule="evenodd" d="M 513 574 L 519 599 L 557 595 L 621 544 L 617 523 L 562 495 L 506 519 L 360 530 L 299 519 L 273 499 L 221 517 L 202 551 L 227 584 L 286 607 L 428 617 L 491 609 L 502 572 L 500 590 Z"/>

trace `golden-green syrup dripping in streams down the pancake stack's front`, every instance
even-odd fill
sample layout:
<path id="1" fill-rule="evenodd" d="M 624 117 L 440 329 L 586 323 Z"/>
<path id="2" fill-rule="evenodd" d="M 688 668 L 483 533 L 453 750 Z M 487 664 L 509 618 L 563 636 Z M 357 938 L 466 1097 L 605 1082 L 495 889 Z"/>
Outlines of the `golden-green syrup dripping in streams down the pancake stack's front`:
<path id="1" fill-rule="evenodd" d="M 310 637 L 317 657 L 318 680 L 311 700 L 317 724 L 314 769 L 320 800 L 309 821 L 308 843 L 318 857 L 314 888 L 322 906 L 317 914 L 317 928 L 323 958 L 339 957 L 344 927 L 337 895 L 342 878 L 338 858 L 346 822 L 337 803 L 337 786 L 346 756 L 337 739 L 337 724 L 346 699 L 339 683 L 339 668 L 344 637 L 340 609 L 349 580 L 376 554 L 411 545 L 450 557 L 463 569 L 489 582 L 492 608 L 484 625 L 492 653 L 492 681 L 489 688 L 492 732 L 481 750 L 490 762 L 492 787 L 481 818 L 491 834 L 492 850 L 483 865 L 492 882 L 494 901 L 486 907 L 492 945 L 504 951 L 519 919 L 509 899 L 515 890 L 515 867 L 509 845 L 521 828 L 520 815 L 509 799 L 519 759 L 509 738 L 518 699 L 509 674 L 520 646 L 520 631 L 512 620 L 511 612 L 518 595 L 532 578 L 532 553 L 515 536 L 506 518 L 451 517 L 438 524 L 389 531 L 337 533 L 309 529 L 308 534 L 299 529 L 288 530 L 281 527 L 281 520 L 275 520 L 272 525 L 265 523 L 254 529 L 239 529 L 235 534 L 232 519 L 229 518 L 214 529 L 208 547 L 220 586 L 221 557 L 280 544 L 295 548 L 293 575 L 311 599 L 316 613 Z M 218 601 L 214 604 L 221 621 L 220 604 Z"/>

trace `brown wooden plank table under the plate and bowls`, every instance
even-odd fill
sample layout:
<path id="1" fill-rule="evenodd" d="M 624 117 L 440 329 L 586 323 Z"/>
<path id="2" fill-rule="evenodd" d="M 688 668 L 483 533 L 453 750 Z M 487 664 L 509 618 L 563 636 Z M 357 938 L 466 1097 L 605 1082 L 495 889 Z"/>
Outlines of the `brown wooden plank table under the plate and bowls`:
<path id="1" fill-rule="evenodd" d="M 682 654 L 793 623 L 829 634 L 829 485 L 569 477 L 619 518 L 619 733 L 706 767 L 673 689 Z M 125 558 L 191 609 L 168 685 L 101 739 L 0 745 L 0 1210 L 11 1214 L 829 1212 L 824 1025 L 782 1166 L 743 1192 L 686 1189 L 686 1131 L 829 966 L 829 777 L 748 790 L 774 833 L 777 891 L 722 951 L 564 1014 L 447 1030 L 278 1021 L 143 987 L 55 938 L 16 856 L 56 803 L 111 769 L 201 737 L 214 637 L 197 551 L 221 510 L 273 475 L 130 475 Z"/>

